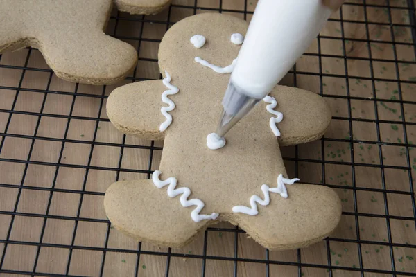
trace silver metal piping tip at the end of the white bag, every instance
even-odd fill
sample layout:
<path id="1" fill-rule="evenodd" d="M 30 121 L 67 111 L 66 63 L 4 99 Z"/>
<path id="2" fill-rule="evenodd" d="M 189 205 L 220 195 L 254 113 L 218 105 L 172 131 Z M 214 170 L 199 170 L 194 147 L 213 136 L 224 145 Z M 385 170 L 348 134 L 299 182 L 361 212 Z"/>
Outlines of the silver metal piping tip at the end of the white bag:
<path id="1" fill-rule="evenodd" d="M 223 114 L 216 129 L 216 134 L 220 137 L 227 134 L 260 100 L 246 96 L 243 91 L 229 82 L 223 99 Z"/>

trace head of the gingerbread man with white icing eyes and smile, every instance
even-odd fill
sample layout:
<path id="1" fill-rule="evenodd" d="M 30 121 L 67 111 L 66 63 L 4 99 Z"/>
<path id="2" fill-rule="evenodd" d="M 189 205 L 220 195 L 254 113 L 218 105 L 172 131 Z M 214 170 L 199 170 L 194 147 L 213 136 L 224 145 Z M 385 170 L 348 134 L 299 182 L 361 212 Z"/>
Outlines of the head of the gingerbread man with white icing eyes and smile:
<path id="1" fill-rule="evenodd" d="M 247 28 L 241 19 L 221 14 L 200 14 L 179 21 L 160 44 L 161 72 L 195 78 L 218 78 L 218 73 L 230 73 Z M 177 64 L 187 66 L 178 69 Z"/>

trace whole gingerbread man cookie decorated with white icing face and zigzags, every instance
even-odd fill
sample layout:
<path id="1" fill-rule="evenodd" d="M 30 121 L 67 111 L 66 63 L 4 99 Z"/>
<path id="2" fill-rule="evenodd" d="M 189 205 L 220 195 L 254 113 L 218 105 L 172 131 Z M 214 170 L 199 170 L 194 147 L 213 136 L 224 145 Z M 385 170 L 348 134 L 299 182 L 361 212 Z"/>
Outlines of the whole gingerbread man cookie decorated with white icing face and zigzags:
<path id="1" fill-rule="evenodd" d="M 228 221 L 268 249 L 294 249 L 336 228 L 338 195 L 325 186 L 293 184 L 297 179 L 288 178 L 279 149 L 322 136 L 331 120 L 322 97 L 277 86 L 226 135 L 225 146 L 209 134 L 247 27 L 229 15 L 187 17 L 162 39 L 164 80 L 110 94 L 107 114 L 121 132 L 164 139 L 153 179 L 107 189 L 105 211 L 116 229 L 182 247 L 198 231 Z"/>

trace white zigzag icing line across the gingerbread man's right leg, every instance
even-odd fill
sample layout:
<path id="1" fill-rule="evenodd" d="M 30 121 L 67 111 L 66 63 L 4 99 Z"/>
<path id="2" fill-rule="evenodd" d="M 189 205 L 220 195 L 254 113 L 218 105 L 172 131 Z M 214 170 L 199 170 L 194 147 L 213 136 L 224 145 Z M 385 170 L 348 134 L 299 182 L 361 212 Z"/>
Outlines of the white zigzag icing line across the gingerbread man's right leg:
<path id="1" fill-rule="evenodd" d="M 295 181 L 299 181 L 299 179 L 287 179 L 284 178 L 283 175 L 279 174 L 277 177 L 277 187 L 276 188 L 270 188 L 268 185 L 263 184 L 261 186 L 261 191 L 263 191 L 264 199 L 261 199 L 257 195 L 252 195 L 250 197 L 250 207 L 248 206 L 234 206 L 232 207 L 233 213 L 245 213 L 246 215 L 257 215 L 259 213 L 259 210 L 257 209 L 257 203 L 259 203 L 262 206 L 268 206 L 270 204 L 270 193 L 279 193 L 281 197 L 287 198 L 288 197 L 288 191 L 286 190 L 286 186 L 284 184 L 291 185 L 295 183 Z"/>

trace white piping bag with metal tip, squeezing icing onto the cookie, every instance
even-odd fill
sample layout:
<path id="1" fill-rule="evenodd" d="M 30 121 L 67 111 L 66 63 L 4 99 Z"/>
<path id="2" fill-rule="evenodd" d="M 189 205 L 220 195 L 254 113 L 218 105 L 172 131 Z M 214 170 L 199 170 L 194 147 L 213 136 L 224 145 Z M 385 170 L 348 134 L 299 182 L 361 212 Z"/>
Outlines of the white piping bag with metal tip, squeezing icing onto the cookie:
<path id="1" fill-rule="evenodd" d="M 223 98 L 223 137 L 288 73 L 342 0 L 259 0 Z"/>

